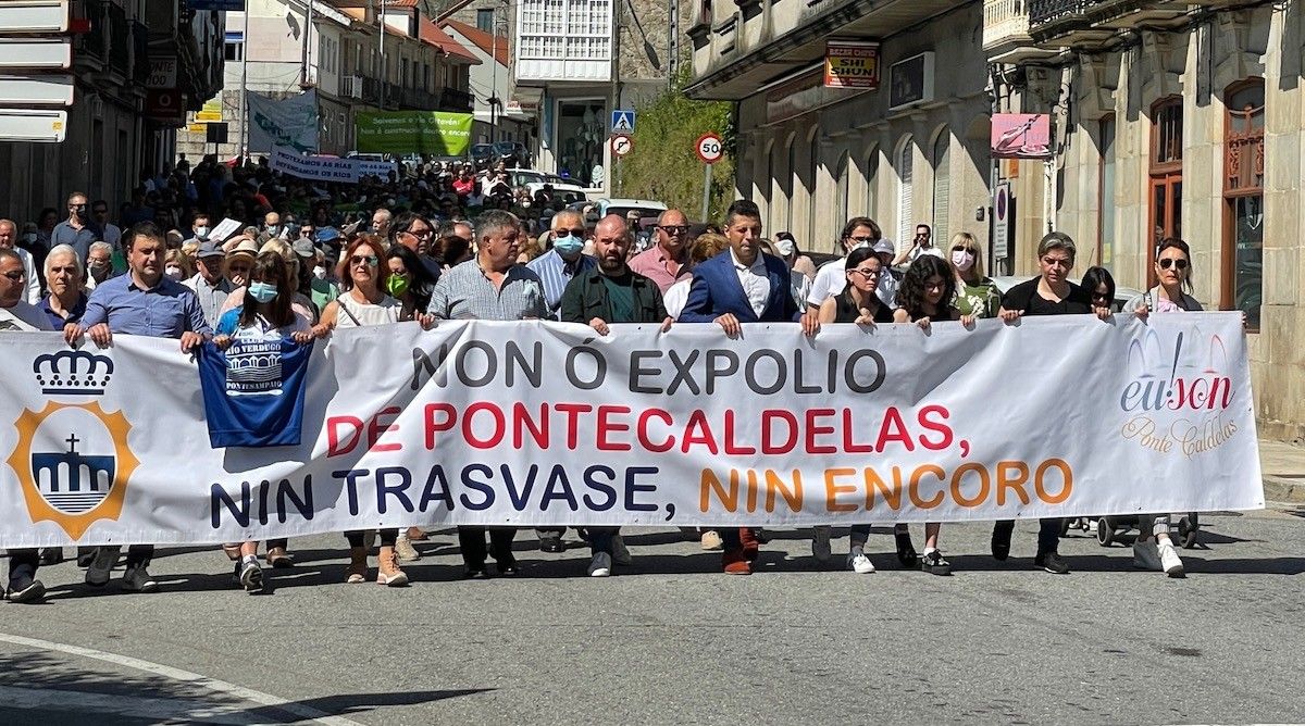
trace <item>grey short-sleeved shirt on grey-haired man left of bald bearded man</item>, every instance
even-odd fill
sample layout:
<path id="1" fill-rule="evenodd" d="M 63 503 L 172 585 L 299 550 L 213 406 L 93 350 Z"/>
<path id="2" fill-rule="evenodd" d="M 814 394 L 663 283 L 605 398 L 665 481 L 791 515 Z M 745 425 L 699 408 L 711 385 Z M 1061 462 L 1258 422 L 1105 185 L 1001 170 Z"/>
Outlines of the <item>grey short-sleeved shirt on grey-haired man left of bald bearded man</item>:
<path id="1" fill-rule="evenodd" d="M 425 312 L 445 321 L 521 321 L 548 317 L 539 275 L 514 265 L 504 272 L 502 285 L 495 289 L 476 259 L 468 259 L 440 275 Z"/>

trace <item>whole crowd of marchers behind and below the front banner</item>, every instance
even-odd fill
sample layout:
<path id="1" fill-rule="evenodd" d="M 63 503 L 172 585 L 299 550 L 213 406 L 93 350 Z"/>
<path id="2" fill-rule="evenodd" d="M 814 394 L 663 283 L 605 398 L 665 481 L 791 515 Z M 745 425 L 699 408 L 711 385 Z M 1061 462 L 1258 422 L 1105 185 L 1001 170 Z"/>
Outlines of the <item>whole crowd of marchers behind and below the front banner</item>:
<path id="1" fill-rule="evenodd" d="M 647 231 L 649 244 L 639 245 L 643 231 L 632 228 L 634 220 L 592 219 L 547 194 L 513 197 L 492 175 L 482 180 L 491 193 L 476 199 L 488 199 L 478 210 L 468 205 L 478 189 L 465 176 L 461 169 L 452 176 L 448 169 L 416 169 L 415 176 L 365 180 L 334 196 L 341 190 L 315 189 L 260 164 L 232 169 L 205 159 L 191 171 L 183 160 L 159 179 L 142 179 L 132 205 L 120 210 L 119 224 L 107 222 L 107 205 L 73 193 L 68 218 L 56 224 L 47 214 L 35 225 L 0 219 L 0 331 L 55 330 L 69 344 L 89 338 L 99 347 L 110 345 L 114 335 L 171 338 L 189 351 L 205 340 L 219 348 L 248 339 L 307 343 L 342 327 L 405 321 L 429 327 L 440 319 L 538 318 L 589 325 L 598 335 L 608 335 L 611 323 L 656 323 L 667 330 L 715 325 L 731 336 L 749 323 L 791 322 L 816 336 L 822 326 L 838 323 L 929 328 L 970 326 L 979 318 L 1114 314 L 1111 274 L 1092 267 L 1082 284 L 1073 283 L 1077 246 L 1058 232 L 1037 245 L 1040 274 L 1002 293 L 984 274 L 981 245 L 964 232 L 940 248 L 932 229 L 920 224 L 911 244 L 894 245 L 873 219 L 857 216 L 840 235 L 846 255 L 817 267 L 791 235 L 766 239 L 761 214 L 749 201 L 731 205 L 722 224 L 702 233 L 684 212 L 668 210 Z M 321 192 L 333 194 L 330 201 L 312 201 Z M 518 214 L 536 199 L 547 214 Z M 189 222 L 185 233 L 176 228 L 177 219 Z M 213 235 L 222 219 L 240 223 L 228 239 Z M 1129 301 L 1129 313 L 1201 309 L 1189 293 L 1186 244 L 1165 240 L 1155 274 L 1159 284 Z M 1013 528 L 1013 521 L 996 523 L 994 558 L 1009 557 Z M 1168 515 L 1143 517 L 1141 529 L 1133 546 L 1135 564 L 1182 576 Z M 938 523 L 925 524 L 923 553 L 916 553 L 910 528 L 898 524 L 900 566 L 949 575 L 941 530 Z M 1041 521 L 1037 568 L 1069 572 L 1058 554 L 1061 530 L 1060 519 Z M 868 521 L 852 525 L 850 571 L 874 571 L 867 553 L 869 533 Z M 538 529 L 540 550 L 564 551 L 564 528 Z M 345 536 L 346 581 L 371 579 L 375 538 L 375 581 L 398 587 L 408 583 L 401 563 L 420 557 L 412 542 L 429 534 L 408 528 Z M 632 562 L 619 528 L 591 527 L 582 536 L 590 547 L 590 575 L 607 576 Z M 488 558 L 497 575 L 515 575 L 514 537 L 512 528 L 459 527 L 466 576 L 488 577 Z M 692 537 L 703 550 L 719 550 L 722 571 L 733 575 L 750 574 L 765 540 L 754 528 L 702 529 Z M 258 542 L 224 545 L 234 581 L 262 590 L 265 566 L 294 566 L 288 545 L 266 542 L 262 562 Z M 816 559 L 831 562 L 831 529 L 816 527 Z M 158 588 L 147 570 L 151 555 L 150 544 L 128 547 L 123 589 Z M 60 558 L 59 550 L 12 549 L 7 597 L 42 600 L 37 570 Z M 120 559 L 116 546 L 84 549 L 78 560 L 86 584 L 106 585 Z"/>

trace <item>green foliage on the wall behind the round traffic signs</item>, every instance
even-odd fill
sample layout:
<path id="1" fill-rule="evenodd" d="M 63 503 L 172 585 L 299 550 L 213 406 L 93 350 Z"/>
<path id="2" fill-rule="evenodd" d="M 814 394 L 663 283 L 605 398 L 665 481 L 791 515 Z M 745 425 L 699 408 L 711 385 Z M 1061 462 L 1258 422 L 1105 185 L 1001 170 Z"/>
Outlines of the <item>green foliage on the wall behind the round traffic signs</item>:
<path id="1" fill-rule="evenodd" d="M 634 150 L 621 159 L 617 169 L 617 196 L 664 202 L 684 210 L 690 220 L 719 222 L 729 206 L 735 186 L 733 104 L 693 100 L 684 95 L 683 83 L 638 107 Z M 702 216 L 705 166 L 696 152 L 698 137 L 720 134 L 726 154 L 711 169 L 711 205 Z"/>

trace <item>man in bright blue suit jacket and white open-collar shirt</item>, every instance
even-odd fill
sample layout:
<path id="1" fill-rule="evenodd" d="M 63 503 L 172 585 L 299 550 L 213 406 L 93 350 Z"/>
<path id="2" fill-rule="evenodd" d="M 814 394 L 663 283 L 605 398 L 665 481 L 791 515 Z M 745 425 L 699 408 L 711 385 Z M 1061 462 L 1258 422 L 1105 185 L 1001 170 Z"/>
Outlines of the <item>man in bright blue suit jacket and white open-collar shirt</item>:
<path id="1" fill-rule="evenodd" d="M 736 338 L 741 323 L 796 322 L 803 332 L 814 335 L 820 323 L 814 313 L 803 314 L 790 295 L 788 265 L 761 252 L 761 210 L 740 199 L 726 212 L 729 249 L 693 269 L 689 300 L 680 322 L 716 323 Z M 723 527 L 722 566 L 728 575 L 750 575 L 750 560 L 758 544 L 750 528 Z"/>

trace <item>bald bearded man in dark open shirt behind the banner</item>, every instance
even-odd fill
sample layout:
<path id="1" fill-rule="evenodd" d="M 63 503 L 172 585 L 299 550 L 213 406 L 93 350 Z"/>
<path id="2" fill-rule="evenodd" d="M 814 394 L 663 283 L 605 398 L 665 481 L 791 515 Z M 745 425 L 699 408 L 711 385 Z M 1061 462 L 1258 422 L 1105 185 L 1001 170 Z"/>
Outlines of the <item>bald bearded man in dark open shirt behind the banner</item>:
<path id="1" fill-rule="evenodd" d="M 671 318 L 662 304 L 662 291 L 656 283 L 630 271 L 625 257 L 633 244 L 625 220 L 615 214 L 603 218 L 594 229 L 594 253 L 598 266 L 576 275 L 562 293 L 559 319 L 585 323 L 599 335 L 611 332 L 608 323 L 662 323 L 662 331 L 671 328 Z M 630 553 L 621 542 L 617 527 L 590 527 L 589 544 L 592 560 L 589 574 L 607 577 L 612 562 L 630 563 Z"/>

